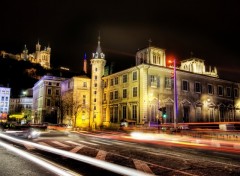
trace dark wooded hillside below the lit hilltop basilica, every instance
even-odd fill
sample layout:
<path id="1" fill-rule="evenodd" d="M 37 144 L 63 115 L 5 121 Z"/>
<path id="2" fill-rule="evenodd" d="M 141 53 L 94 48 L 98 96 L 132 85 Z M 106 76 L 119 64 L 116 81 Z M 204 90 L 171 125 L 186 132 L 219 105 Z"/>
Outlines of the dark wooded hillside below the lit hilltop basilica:
<path id="1" fill-rule="evenodd" d="M 32 88 L 44 75 L 70 78 L 80 74 L 59 69 L 45 70 L 39 64 L 1 57 L 0 66 L 0 86 L 11 88 L 11 98 L 17 98 L 22 90 Z"/>

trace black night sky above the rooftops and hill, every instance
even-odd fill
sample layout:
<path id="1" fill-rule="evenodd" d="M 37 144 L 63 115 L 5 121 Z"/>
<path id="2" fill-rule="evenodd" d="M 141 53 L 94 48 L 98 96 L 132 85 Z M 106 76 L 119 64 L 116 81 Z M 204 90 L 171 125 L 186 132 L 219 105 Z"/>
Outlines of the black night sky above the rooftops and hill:
<path id="1" fill-rule="evenodd" d="M 3 0 L 0 50 L 35 51 L 39 40 L 52 48 L 51 64 L 82 70 L 101 46 L 108 63 L 135 63 L 139 48 L 166 49 L 178 61 L 193 56 L 216 66 L 223 79 L 240 79 L 238 0 Z"/>

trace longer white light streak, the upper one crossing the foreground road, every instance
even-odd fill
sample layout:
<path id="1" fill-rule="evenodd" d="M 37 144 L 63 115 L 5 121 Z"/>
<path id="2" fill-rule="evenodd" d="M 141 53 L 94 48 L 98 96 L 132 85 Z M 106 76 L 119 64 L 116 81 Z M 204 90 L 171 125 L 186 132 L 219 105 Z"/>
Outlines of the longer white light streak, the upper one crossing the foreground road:
<path id="1" fill-rule="evenodd" d="M 7 135 L 4 135 L 2 133 L 0 133 L 0 137 L 10 140 L 12 142 L 18 143 L 18 144 L 25 144 L 25 145 L 31 145 L 37 149 L 40 150 L 44 150 L 47 152 L 51 152 L 51 153 L 55 153 L 61 156 L 65 156 L 68 158 L 72 158 L 81 162 L 85 162 L 88 164 L 91 164 L 95 167 L 99 167 L 99 168 L 103 168 L 109 171 L 112 171 L 114 173 L 119 173 L 122 175 L 129 175 L 129 176 L 152 176 L 152 174 L 148 174 L 148 173 L 144 173 L 135 169 L 131 169 L 128 167 L 124 167 L 124 166 L 120 166 L 117 164 L 113 164 L 113 163 L 108 163 L 106 161 L 101 161 L 101 160 L 97 160 L 95 158 L 91 158 L 88 156 L 84 156 L 84 155 L 80 155 L 80 154 L 75 154 L 75 153 L 71 153 L 68 151 L 64 151 L 64 150 L 60 150 L 60 149 L 55 149 L 53 147 L 49 147 L 49 146 L 42 146 L 33 142 L 29 142 L 29 141 L 24 141 L 24 140 L 20 140 L 20 139 L 16 139 Z"/>

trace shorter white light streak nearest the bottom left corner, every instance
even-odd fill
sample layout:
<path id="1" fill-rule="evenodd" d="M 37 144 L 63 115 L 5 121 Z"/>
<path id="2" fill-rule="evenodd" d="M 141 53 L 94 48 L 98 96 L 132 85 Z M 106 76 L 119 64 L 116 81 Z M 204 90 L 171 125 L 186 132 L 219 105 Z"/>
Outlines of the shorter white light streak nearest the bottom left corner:
<path id="1" fill-rule="evenodd" d="M 47 170 L 50 170 L 53 173 L 56 173 L 56 174 L 61 175 L 61 176 L 74 176 L 72 174 L 69 174 L 69 173 L 65 172 L 62 169 L 59 169 L 58 167 L 56 167 L 56 166 L 54 166 L 52 164 L 49 164 L 46 161 L 43 161 L 43 160 L 41 160 L 41 159 L 39 159 L 39 158 L 37 158 L 37 157 L 27 153 L 27 152 L 24 152 L 24 151 L 22 151 L 22 150 L 20 150 L 20 149 L 18 149 L 16 147 L 8 145 L 8 144 L 6 144 L 4 142 L 0 141 L 0 146 L 5 147 L 7 150 L 10 150 L 10 151 L 18 154 L 18 155 L 20 155 L 20 156 L 22 156 L 22 157 L 24 157 L 24 158 L 34 162 L 34 163 L 36 163 L 36 164 L 46 168 Z"/>

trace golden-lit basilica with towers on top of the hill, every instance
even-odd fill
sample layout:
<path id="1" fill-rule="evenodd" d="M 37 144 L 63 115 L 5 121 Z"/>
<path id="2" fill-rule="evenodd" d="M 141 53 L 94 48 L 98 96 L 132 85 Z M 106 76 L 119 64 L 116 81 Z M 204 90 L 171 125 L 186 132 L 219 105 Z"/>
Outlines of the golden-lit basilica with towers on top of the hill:
<path id="1" fill-rule="evenodd" d="M 32 63 L 37 63 L 40 64 L 43 68 L 45 69 L 50 69 L 50 56 L 51 56 L 51 48 L 44 47 L 43 50 L 41 50 L 41 45 L 39 42 L 36 44 L 36 51 L 34 53 L 29 54 L 28 49 L 26 45 L 24 46 L 24 49 L 22 53 L 20 54 L 11 54 L 7 53 L 5 51 L 1 51 L 1 56 L 3 58 L 12 58 L 16 60 L 25 60 L 25 61 L 30 61 Z"/>

